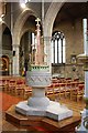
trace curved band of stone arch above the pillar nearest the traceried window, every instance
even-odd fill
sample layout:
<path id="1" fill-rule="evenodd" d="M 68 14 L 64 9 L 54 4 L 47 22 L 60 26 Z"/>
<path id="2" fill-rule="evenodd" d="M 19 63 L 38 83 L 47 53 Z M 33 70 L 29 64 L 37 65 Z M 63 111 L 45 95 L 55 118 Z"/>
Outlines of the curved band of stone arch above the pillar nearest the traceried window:
<path id="1" fill-rule="evenodd" d="M 44 21 L 44 37 L 52 37 L 53 24 L 56 19 L 56 16 L 66 0 L 62 0 L 62 2 L 52 2 Z"/>

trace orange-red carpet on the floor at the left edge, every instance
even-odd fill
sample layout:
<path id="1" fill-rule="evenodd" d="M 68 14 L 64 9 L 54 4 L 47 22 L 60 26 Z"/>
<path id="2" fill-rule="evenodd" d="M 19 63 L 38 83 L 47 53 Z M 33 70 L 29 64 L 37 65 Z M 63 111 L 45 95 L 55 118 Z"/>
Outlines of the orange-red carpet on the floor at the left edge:
<path id="1" fill-rule="evenodd" d="M 0 111 L 7 111 L 11 105 L 16 104 L 20 101 L 22 101 L 22 99 L 0 92 Z"/>

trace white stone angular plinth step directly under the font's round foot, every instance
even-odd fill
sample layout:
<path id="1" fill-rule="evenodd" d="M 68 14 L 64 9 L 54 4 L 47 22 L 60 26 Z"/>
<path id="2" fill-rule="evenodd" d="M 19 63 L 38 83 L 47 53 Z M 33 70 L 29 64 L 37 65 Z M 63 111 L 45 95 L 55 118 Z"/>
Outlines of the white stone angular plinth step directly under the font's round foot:
<path id="1" fill-rule="evenodd" d="M 47 108 L 28 105 L 28 101 L 20 102 L 15 105 L 15 111 L 23 115 L 47 116 L 61 121 L 73 116 L 73 111 L 58 102 L 50 101 Z"/>

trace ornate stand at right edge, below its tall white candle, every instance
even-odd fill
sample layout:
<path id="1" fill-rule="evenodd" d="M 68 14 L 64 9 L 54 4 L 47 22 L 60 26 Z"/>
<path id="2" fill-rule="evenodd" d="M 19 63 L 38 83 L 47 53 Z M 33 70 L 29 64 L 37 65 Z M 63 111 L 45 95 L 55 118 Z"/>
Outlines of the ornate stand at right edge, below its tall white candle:
<path id="1" fill-rule="evenodd" d="M 81 124 L 80 124 L 80 126 L 76 127 L 76 131 L 79 133 L 79 131 L 88 132 L 88 55 L 80 54 L 80 55 L 78 55 L 78 58 L 84 63 L 84 70 L 85 70 L 85 95 L 84 95 L 84 100 L 86 103 L 84 111 L 81 111 Z"/>

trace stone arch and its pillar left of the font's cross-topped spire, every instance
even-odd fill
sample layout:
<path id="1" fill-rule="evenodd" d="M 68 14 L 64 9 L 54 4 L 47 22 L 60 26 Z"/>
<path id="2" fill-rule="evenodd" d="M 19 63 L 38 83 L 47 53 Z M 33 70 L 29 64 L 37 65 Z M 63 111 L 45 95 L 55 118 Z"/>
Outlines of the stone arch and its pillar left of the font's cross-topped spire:
<path id="1" fill-rule="evenodd" d="M 13 30 L 13 51 L 15 51 L 15 55 L 13 57 L 13 75 L 20 75 L 20 64 L 19 64 L 19 47 L 20 47 L 20 40 L 22 37 L 22 28 L 28 20 L 30 16 L 34 16 L 34 12 L 31 11 L 29 8 L 25 9 L 16 19 L 15 24 L 14 24 L 14 30 Z M 35 17 L 36 18 L 36 17 Z"/>

